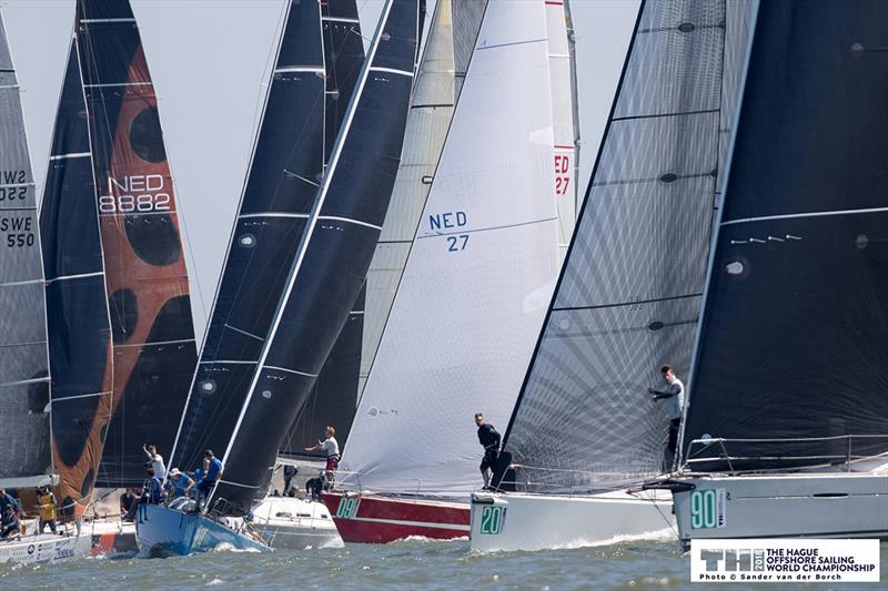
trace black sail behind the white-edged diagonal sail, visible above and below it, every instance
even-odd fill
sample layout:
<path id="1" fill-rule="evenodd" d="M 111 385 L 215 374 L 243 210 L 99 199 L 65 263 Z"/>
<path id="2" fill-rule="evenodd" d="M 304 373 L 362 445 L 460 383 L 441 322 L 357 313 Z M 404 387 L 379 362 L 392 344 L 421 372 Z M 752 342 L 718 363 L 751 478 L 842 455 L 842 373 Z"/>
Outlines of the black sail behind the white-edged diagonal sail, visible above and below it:
<path id="1" fill-rule="evenodd" d="M 324 165 L 336 141 L 345 111 L 352 99 L 364 43 L 354 0 L 326 2 L 323 12 L 324 68 L 327 109 Z M 300 454 L 306 442 L 313 445 L 326 425 L 336 426 L 336 438 L 344 444 L 357 405 L 357 377 L 361 371 L 361 342 L 364 328 L 364 298 L 355 300 L 352 313 L 330 351 L 324 368 L 312 387 L 303 410 L 289 429 L 282 454 Z"/>

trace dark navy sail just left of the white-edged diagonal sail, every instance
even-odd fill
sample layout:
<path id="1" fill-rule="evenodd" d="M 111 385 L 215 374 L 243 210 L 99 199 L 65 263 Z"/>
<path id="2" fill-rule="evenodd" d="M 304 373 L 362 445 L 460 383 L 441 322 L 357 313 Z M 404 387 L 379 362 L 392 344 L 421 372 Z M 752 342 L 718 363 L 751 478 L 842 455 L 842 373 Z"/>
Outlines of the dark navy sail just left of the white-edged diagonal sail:
<path id="1" fill-rule="evenodd" d="M 279 43 L 200 364 L 171 455 L 170 466 L 182 470 L 198 468 L 204 449 L 221 452 L 231 439 L 324 175 L 331 100 L 320 3 L 291 1 Z"/>

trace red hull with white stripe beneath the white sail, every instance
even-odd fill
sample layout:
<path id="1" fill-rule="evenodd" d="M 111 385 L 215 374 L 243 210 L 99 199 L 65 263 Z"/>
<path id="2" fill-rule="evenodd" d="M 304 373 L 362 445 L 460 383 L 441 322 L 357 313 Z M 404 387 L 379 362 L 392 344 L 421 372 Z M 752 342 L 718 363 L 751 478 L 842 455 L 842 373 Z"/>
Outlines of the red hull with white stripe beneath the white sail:
<path id="1" fill-rule="evenodd" d="M 342 492 L 325 492 L 323 498 L 346 542 L 387 543 L 411 536 L 452 540 L 470 531 L 468 502 L 345 497 Z"/>

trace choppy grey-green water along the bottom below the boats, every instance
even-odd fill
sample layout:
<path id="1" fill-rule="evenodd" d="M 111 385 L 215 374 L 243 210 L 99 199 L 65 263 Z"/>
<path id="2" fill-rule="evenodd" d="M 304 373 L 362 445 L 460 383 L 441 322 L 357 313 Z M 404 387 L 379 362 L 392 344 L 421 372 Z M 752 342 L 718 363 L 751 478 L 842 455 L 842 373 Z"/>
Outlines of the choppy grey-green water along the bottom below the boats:
<path id="1" fill-rule="evenodd" d="M 0 565 L 2 589 L 697 589 L 672 541 L 475 554 L 466 540 L 405 540 L 268 554 L 216 551 L 168 559 L 83 559 L 42 567 Z M 888 581 L 888 544 L 881 544 Z M 884 583 L 882 583 L 884 584 Z M 182 587 L 185 585 L 185 587 Z M 713 585 L 716 587 L 716 585 Z M 723 584 L 725 590 L 885 589 L 878 583 Z"/>

